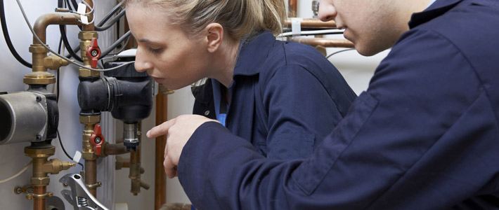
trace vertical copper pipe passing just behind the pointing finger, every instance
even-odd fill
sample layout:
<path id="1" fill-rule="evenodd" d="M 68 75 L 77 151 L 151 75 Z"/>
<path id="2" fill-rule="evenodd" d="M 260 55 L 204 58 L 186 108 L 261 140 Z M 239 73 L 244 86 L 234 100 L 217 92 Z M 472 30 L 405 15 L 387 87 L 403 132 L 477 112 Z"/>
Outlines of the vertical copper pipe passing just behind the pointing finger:
<path id="1" fill-rule="evenodd" d="M 156 125 L 160 125 L 167 120 L 168 98 L 165 94 L 164 86 L 160 85 L 160 93 L 156 96 Z M 154 188 L 154 206 L 160 209 L 167 202 L 167 174 L 164 174 L 164 147 L 167 145 L 165 135 L 156 138 L 155 155 L 155 188 Z"/>

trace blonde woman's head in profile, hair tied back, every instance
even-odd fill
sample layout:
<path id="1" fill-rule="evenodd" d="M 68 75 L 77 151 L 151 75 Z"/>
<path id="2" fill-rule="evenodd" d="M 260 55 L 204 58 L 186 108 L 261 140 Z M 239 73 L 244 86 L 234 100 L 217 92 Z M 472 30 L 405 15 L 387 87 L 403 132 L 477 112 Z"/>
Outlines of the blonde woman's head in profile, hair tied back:
<path id="1" fill-rule="evenodd" d="M 283 0 L 124 0 L 138 41 L 135 67 L 170 89 L 216 78 L 242 37 L 280 33 Z M 234 52 L 235 51 L 235 52 Z M 218 62 L 217 62 L 218 61 Z"/>

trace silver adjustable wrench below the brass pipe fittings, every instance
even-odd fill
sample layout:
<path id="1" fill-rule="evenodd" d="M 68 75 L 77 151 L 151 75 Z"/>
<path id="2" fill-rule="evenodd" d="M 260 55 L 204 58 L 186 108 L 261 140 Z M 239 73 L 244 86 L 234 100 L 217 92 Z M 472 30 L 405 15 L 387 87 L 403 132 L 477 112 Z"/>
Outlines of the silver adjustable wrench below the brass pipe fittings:
<path id="1" fill-rule="evenodd" d="M 71 190 L 62 190 L 60 193 L 63 194 L 67 202 L 70 202 L 74 210 L 109 210 L 91 195 L 79 174 L 66 174 L 59 179 L 59 182 L 71 188 Z"/>

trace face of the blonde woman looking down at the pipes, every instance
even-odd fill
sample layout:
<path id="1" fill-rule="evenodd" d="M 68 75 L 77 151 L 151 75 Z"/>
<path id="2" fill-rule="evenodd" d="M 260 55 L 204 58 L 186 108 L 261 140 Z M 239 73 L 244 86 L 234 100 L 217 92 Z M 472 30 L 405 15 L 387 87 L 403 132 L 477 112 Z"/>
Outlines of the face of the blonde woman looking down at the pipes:
<path id="1" fill-rule="evenodd" d="M 202 38 L 189 38 L 158 8 L 127 6 L 131 33 L 138 42 L 135 69 L 176 90 L 207 77 L 209 53 Z"/>

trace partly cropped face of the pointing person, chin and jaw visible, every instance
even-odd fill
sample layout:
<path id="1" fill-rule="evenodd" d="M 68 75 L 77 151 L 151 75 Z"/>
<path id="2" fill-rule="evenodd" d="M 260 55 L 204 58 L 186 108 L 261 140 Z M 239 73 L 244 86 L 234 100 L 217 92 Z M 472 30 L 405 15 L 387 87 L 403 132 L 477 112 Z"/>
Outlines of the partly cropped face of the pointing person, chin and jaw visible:
<path id="1" fill-rule="evenodd" d="M 361 55 L 391 48 L 408 31 L 412 13 L 425 10 L 430 0 L 321 0 L 319 18 L 335 20 Z"/>

